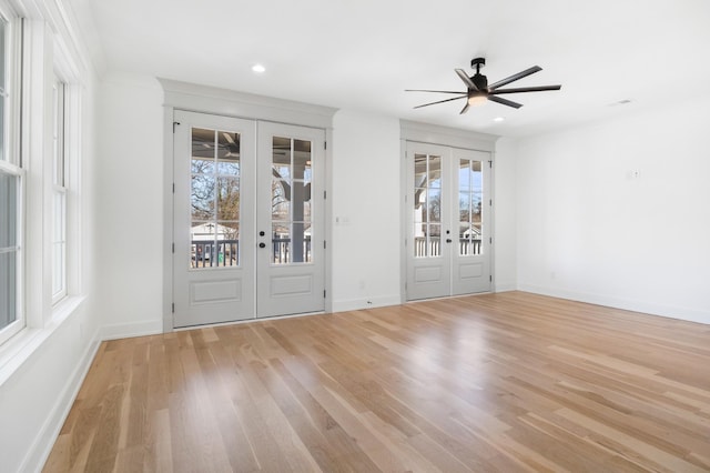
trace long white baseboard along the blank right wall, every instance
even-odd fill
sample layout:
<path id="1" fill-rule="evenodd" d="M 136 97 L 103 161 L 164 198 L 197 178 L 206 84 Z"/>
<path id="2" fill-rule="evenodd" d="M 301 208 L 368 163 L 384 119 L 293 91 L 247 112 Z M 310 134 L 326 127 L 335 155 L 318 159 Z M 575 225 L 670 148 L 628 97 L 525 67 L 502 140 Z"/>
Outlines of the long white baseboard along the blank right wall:
<path id="1" fill-rule="evenodd" d="M 519 291 L 532 292 L 536 294 L 549 295 L 552 298 L 568 299 L 571 301 L 586 302 L 588 304 L 605 305 L 608 308 L 642 312 L 669 319 L 710 324 L 710 312 L 703 312 L 696 309 L 655 304 L 647 301 L 613 298 L 605 294 L 568 291 L 564 289 L 548 288 L 536 284 L 518 284 L 517 289 Z"/>

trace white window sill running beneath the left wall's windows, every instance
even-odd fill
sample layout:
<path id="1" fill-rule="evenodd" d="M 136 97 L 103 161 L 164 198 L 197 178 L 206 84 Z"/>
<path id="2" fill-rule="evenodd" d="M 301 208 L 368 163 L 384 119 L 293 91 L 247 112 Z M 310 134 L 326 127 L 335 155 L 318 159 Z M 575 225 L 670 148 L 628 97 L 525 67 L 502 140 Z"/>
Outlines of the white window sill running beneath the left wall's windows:
<path id="1" fill-rule="evenodd" d="M 52 309 L 52 318 L 42 329 L 26 328 L 0 346 L 0 386 L 81 306 L 85 296 L 69 296 Z"/>

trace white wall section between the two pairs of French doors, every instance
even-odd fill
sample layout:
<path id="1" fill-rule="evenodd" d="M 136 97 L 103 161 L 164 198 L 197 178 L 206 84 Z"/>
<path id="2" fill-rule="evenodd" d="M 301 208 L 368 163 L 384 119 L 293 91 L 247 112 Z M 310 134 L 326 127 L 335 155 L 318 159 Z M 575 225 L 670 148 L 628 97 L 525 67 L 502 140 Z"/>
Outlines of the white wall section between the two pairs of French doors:
<path id="1" fill-rule="evenodd" d="M 341 110 L 333 121 L 333 310 L 397 304 L 399 120 Z"/>

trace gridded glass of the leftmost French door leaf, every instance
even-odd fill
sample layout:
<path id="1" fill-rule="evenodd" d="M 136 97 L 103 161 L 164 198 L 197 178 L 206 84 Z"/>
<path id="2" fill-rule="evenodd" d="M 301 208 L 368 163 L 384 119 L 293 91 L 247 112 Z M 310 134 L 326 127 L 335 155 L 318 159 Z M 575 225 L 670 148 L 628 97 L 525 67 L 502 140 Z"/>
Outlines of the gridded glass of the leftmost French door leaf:
<path id="1" fill-rule="evenodd" d="M 236 266 L 240 133 L 192 129 L 190 268 Z"/>

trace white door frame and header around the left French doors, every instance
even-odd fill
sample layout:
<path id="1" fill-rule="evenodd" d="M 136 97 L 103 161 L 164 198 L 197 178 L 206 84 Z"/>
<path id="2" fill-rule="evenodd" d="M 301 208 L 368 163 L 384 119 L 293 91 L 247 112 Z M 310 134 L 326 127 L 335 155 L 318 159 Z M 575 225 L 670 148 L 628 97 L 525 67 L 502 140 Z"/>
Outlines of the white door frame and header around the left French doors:
<path id="1" fill-rule="evenodd" d="M 300 127 L 320 128 L 325 130 L 325 190 L 332 194 L 332 148 L 333 115 L 337 109 L 275 99 L 265 95 L 237 92 L 207 85 L 180 82 L 170 79 L 158 79 L 164 93 L 163 102 L 163 333 L 173 329 L 173 122 L 175 110 L 200 112 L 222 117 L 233 117 L 247 120 L 263 120 L 294 124 Z M 332 199 L 325 201 L 325 238 L 331 240 Z M 325 311 L 333 306 L 331 248 L 325 253 Z"/>

